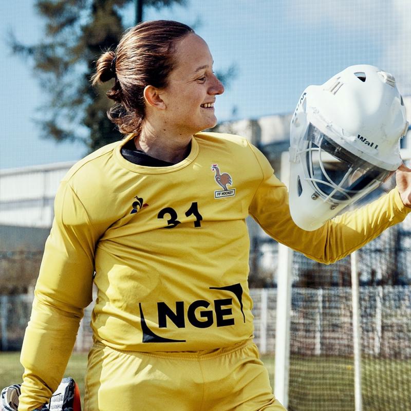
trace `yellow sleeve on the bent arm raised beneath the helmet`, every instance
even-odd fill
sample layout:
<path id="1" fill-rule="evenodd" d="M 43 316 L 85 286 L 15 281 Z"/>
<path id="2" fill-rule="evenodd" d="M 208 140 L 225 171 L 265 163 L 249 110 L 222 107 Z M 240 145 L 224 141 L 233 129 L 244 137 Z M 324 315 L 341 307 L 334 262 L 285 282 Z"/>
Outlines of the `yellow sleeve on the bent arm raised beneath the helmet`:
<path id="1" fill-rule="evenodd" d="M 411 209 L 404 206 L 397 189 L 364 207 L 341 214 L 323 227 L 305 231 L 291 218 L 286 186 L 273 174 L 263 155 L 253 148 L 263 173 L 250 215 L 272 238 L 307 257 L 330 264 L 361 248 L 385 229 L 401 222 Z"/>

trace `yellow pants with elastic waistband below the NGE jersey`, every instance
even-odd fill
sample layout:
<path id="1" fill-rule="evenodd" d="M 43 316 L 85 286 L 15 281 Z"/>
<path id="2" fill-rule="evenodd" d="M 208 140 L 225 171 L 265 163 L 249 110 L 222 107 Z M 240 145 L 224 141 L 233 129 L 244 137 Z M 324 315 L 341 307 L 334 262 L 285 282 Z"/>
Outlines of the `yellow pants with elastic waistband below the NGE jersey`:
<path id="1" fill-rule="evenodd" d="M 285 411 L 251 341 L 212 351 L 90 350 L 85 411 Z"/>

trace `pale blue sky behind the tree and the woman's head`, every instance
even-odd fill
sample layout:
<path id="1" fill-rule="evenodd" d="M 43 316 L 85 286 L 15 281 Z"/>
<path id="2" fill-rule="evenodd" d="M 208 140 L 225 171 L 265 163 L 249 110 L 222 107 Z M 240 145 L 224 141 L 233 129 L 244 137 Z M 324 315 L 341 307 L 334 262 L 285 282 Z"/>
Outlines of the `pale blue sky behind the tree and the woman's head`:
<path id="1" fill-rule="evenodd" d="M 0 2 L 2 78 L 0 169 L 80 159 L 86 148 L 41 140 L 32 121 L 47 101 L 29 61 L 10 54 L 8 30 L 30 44 L 41 39 L 34 0 Z M 219 96 L 220 120 L 289 113 L 309 84 L 321 84 L 352 64 L 393 73 L 411 94 L 409 0 L 188 0 L 146 20 L 170 18 L 194 25 L 209 44 L 215 69 L 234 64 L 237 75 Z M 127 13 L 133 24 L 133 10 Z"/>

